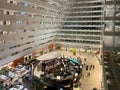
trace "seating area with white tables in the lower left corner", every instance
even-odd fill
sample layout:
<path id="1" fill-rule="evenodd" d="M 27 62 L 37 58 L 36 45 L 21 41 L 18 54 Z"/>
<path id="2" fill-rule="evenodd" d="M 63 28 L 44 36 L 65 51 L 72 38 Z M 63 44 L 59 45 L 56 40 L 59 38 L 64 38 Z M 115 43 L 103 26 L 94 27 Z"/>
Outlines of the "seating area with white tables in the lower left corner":
<path id="1" fill-rule="evenodd" d="M 11 68 L 3 67 L 0 73 L 0 90 L 28 90 L 23 84 L 23 77 L 28 73 L 29 70 L 22 64 Z"/>

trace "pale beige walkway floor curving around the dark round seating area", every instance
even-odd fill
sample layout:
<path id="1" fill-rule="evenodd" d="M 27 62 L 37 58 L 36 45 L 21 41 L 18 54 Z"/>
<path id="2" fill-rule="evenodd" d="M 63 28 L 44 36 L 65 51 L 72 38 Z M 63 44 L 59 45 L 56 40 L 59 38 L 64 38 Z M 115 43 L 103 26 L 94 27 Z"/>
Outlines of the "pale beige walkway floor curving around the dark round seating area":
<path id="1" fill-rule="evenodd" d="M 101 90 L 101 80 L 102 80 L 102 67 L 99 64 L 98 58 L 90 53 L 80 53 L 77 55 L 73 55 L 71 52 L 68 51 L 62 51 L 62 55 L 64 56 L 72 56 L 74 58 L 77 58 L 78 56 L 81 57 L 82 61 L 84 61 L 84 58 L 86 58 L 86 64 L 91 65 L 93 64 L 95 68 L 93 70 L 87 70 L 83 69 L 83 76 L 80 80 L 81 82 L 81 90 L 92 90 L 93 88 L 97 88 L 98 90 Z M 90 76 L 87 77 L 87 73 L 90 72 Z M 77 90 L 77 89 L 75 89 Z"/>

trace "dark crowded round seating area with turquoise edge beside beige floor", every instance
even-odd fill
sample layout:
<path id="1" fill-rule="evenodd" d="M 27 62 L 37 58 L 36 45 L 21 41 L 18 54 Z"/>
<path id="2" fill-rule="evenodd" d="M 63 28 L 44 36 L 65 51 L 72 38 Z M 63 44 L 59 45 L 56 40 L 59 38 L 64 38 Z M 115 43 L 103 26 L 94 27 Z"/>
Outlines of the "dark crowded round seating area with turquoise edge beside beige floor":
<path id="1" fill-rule="evenodd" d="M 43 85 L 44 90 L 73 90 L 73 87 L 78 87 L 82 76 L 82 61 L 80 57 L 77 59 L 58 57 L 55 60 L 57 60 L 56 63 L 58 64 L 54 63 L 53 60 L 51 60 L 51 64 L 46 64 L 50 60 L 41 63 L 44 64 L 41 67 L 42 73 L 38 78 L 46 78 L 45 85 Z M 51 66 L 54 66 L 52 70 L 49 69 Z"/>

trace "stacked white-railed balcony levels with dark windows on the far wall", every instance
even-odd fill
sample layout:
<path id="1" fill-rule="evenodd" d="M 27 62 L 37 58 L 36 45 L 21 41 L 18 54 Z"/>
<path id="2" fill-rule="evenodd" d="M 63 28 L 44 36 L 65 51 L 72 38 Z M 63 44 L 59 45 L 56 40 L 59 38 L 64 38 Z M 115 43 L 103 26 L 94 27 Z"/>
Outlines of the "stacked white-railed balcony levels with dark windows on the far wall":
<path id="1" fill-rule="evenodd" d="M 96 44 L 99 46 L 103 31 L 103 1 L 76 0 L 63 8 L 62 29 L 57 42 Z"/>

